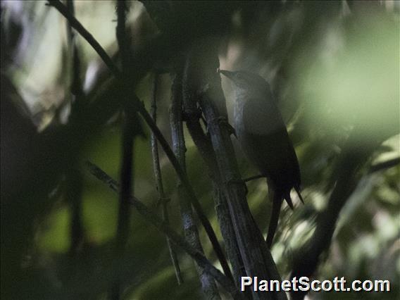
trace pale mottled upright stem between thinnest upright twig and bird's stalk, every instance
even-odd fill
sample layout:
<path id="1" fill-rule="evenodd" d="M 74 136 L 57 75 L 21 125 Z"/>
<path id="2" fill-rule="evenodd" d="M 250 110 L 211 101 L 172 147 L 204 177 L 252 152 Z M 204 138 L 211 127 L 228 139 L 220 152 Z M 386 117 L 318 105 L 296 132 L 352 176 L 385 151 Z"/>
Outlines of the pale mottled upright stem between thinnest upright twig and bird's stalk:
<path id="1" fill-rule="evenodd" d="M 177 160 L 180 163 L 182 171 L 186 174 L 185 161 L 185 137 L 182 127 L 182 75 L 177 74 L 173 80 L 172 87 L 172 104 L 170 107 L 170 126 L 173 140 L 173 151 Z M 194 249 L 204 253 L 203 247 L 199 239 L 199 230 L 193 218 L 192 205 L 188 199 L 188 194 L 182 186 L 181 180 L 177 182 L 177 192 L 180 203 L 180 213 L 182 216 L 182 225 L 185 233 L 185 239 L 191 244 Z M 217 286 L 213 277 L 206 273 L 204 269 L 197 268 L 199 273 L 201 288 L 207 299 L 220 299 Z"/>

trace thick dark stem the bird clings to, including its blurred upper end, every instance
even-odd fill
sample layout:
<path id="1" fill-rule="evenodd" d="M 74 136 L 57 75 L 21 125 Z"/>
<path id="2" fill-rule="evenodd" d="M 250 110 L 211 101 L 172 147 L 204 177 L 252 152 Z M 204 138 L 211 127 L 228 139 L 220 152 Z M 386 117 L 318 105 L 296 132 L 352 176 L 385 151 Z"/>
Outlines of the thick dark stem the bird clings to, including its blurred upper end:
<path id="1" fill-rule="evenodd" d="M 213 39 L 199 41 L 199 44 L 193 46 L 187 63 L 187 79 L 192 84 L 191 93 L 199 95 L 199 104 L 206 118 L 246 275 L 280 280 L 270 251 L 247 204 L 246 189 L 239 174 L 235 151 L 230 140 L 225 97 L 220 77 L 215 72 L 218 68 L 218 41 Z M 199 73 L 199 70 L 202 73 Z M 286 299 L 284 292 L 262 294 L 253 291 L 253 297 L 254 299 Z"/>

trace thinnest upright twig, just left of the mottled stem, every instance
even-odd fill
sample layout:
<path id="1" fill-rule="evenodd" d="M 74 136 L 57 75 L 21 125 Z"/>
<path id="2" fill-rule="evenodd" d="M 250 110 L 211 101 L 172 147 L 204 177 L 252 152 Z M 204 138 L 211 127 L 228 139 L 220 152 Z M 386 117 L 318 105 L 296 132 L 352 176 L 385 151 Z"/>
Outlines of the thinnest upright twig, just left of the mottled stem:
<path id="1" fill-rule="evenodd" d="M 153 85 L 153 97 L 151 103 L 151 117 L 153 118 L 154 122 L 157 122 L 157 82 L 158 82 L 158 75 L 155 73 L 154 75 L 154 85 Z M 165 197 L 164 187 L 163 187 L 163 178 L 161 176 L 161 168 L 160 168 L 160 159 L 158 156 L 158 144 L 157 139 L 154 136 L 154 133 L 151 133 L 151 154 L 153 156 L 153 170 L 154 170 L 154 177 L 156 177 L 156 186 L 158 191 L 158 197 L 161 201 L 161 205 L 163 206 L 163 220 L 166 225 L 169 225 L 169 218 L 168 218 L 168 199 Z M 171 245 L 170 238 L 167 236 L 167 246 L 170 252 L 171 262 L 173 263 L 175 269 L 175 275 L 177 278 L 177 284 L 181 285 L 183 283 L 182 274 L 180 272 L 179 261 L 177 260 L 177 255 L 173 250 Z"/>

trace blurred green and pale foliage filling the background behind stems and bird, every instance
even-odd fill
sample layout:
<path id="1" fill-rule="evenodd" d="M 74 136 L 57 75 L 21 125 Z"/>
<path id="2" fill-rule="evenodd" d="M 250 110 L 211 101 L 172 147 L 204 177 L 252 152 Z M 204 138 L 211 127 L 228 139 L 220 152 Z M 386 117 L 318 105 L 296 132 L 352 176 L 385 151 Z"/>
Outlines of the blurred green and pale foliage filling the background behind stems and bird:
<path id="1" fill-rule="evenodd" d="M 144 57 L 137 50 L 135 55 L 139 58 L 130 65 L 133 73 L 138 70 L 135 92 L 147 108 L 151 105 L 154 73 L 170 70 L 193 41 L 204 37 L 220 39 L 220 68 L 251 70 L 270 82 L 299 157 L 305 201 L 304 206 L 296 201 L 294 211 L 285 206 L 281 215 L 272 254 L 282 277 L 290 275 L 293 261 L 298 259 L 296 253 L 315 232 L 316 215 L 327 207 L 339 175 L 350 168 L 351 161 L 365 158 L 357 165 L 356 187 L 340 212 L 332 244 L 315 277 L 325 280 L 339 276 L 348 281 L 380 279 L 392 284 L 390 294 L 341 294 L 341 299 L 399 296 L 400 167 L 397 164 L 370 171 L 371 166 L 398 158 L 400 154 L 399 3 L 142 2 L 130 3 L 127 32 L 134 51 L 156 40 L 149 55 Z M 68 127 L 74 108 L 70 99 L 72 70 L 67 23 L 45 3 L 1 3 L 1 83 L 3 86 L 4 82 L 11 82 L 10 86 L 15 87 L 1 88 L 2 265 L 6 259 L 18 259 L 3 253 L 4 241 L 23 241 L 23 251 L 19 254 L 25 257 L 23 265 L 29 275 L 23 277 L 18 288 L 20 296 L 30 295 L 30 299 L 32 295 L 38 299 L 102 299 L 109 282 L 118 274 L 124 276 L 127 299 L 200 298 L 193 261 L 177 250 L 185 280 L 178 287 L 165 237 L 135 210 L 130 217 L 129 255 L 120 261 L 111 258 L 118 196 L 90 175 L 83 162 L 92 161 L 118 179 L 123 120 L 117 105 L 120 94 L 104 63 L 77 36 L 85 101 L 96 104 L 90 106 L 96 111 L 89 111 L 90 116 L 81 120 L 82 128 L 89 124 L 90 129 L 82 135 L 84 138 L 80 135 L 81 127 Z M 114 6 L 113 1 L 75 1 L 75 16 L 116 61 Z M 162 34 L 168 34 L 170 39 L 163 40 Z M 151 61 L 151 69 L 143 67 L 146 60 Z M 168 74 L 158 78 L 157 124 L 170 140 L 168 108 L 172 79 Z M 229 82 L 223 80 L 223 89 L 231 115 Z M 6 101 L 25 107 L 25 113 L 21 114 L 21 109 L 8 109 Z M 4 115 L 8 118 L 3 118 Z M 23 127 L 27 120 L 32 123 Z M 151 168 L 150 132 L 142 127 L 144 136 L 135 137 L 135 196 L 159 213 Z M 7 132 L 14 133 L 8 137 Z M 206 165 L 186 130 L 185 142 L 188 177 L 222 240 L 211 179 L 205 175 Z M 233 137 L 232 142 L 236 143 Z M 241 149 L 237 146 L 235 151 L 242 177 L 256 175 Z M 349 154 L 347 160 L 342 159 L 344 153 Z M 3 166 L 6 160 L 8 163 Z M 78 258 L 70 254 L 72 210 L 65 196 L 68 189 L 65 170 L 75 161 L 82 173 L 85 235 Z M 170 223 L 180 231 L 177 177 L 163 154 L 161 170 L 165 194 L 171 199 Z M 39 179 L 35 181 L 36 177 Z M 247 187 L 249 207 L 265 233 L 271 206 L 265 180 L 251 181 Z M 32 190 L 37 192 L 32 194 Z M 19 204 L 16 199 L 29 199 L 30 204 Z M 4 211 L 13 213 L 5 216 Z M 18 220 L 23 220 L 23 225 L 11 232 L 11 225 L 18 224 Z M 202 227 L 199 229 L 206 257 L 219 268 L 206 232 Z M 30 231 L 34 232 L 32 239 Z M 9 271 L 6 268 L 7 265 L 2 266 L 2 275 Z M 11 284 L 12 280 L 1 277 L 2 286 Z M 331 293 L 309 296 L 337 298 Z"/>

